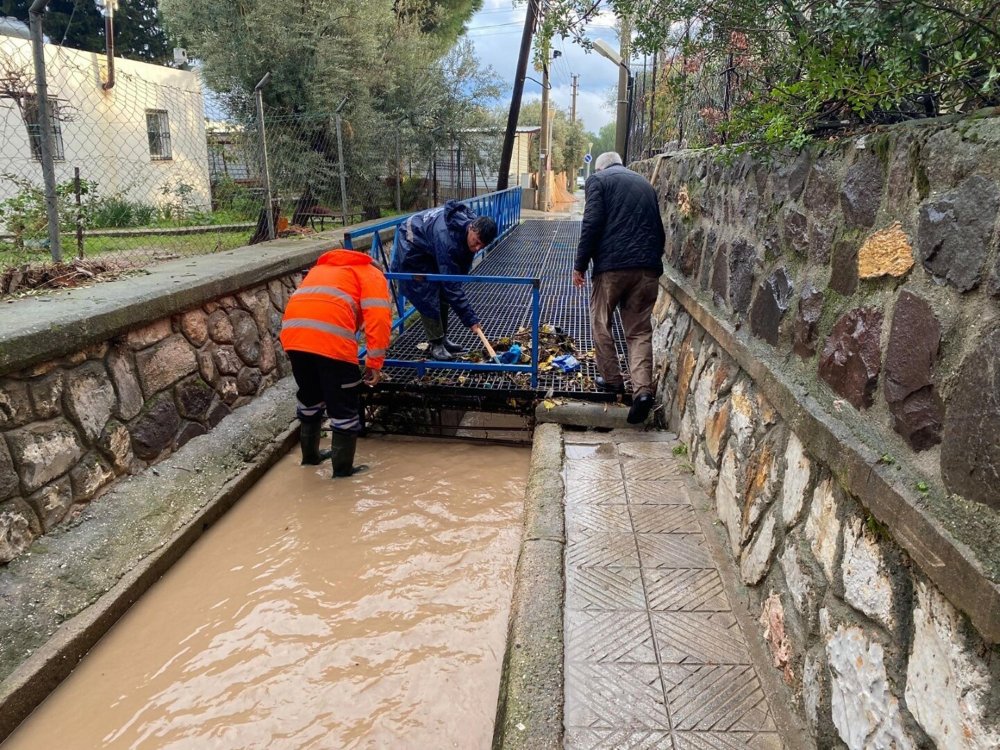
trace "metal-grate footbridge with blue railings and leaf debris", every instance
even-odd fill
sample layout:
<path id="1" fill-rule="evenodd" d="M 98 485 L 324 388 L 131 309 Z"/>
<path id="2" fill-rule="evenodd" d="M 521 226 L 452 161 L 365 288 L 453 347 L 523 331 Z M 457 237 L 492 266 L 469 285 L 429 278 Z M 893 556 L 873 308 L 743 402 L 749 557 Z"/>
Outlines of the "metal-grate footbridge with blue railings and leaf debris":
<path id="1" fill-rule="evenodd" d="M 613 400 L 595 380 L 590 283 L 582 288 L 572 284 L 580 222 L 522 221 L 520 188 L 481 196 L 472 203 L 477 213 L 497 222 L 497 239 L 479 253 L 468 276 L 422 278 L 465 285 L 501 362 L 491 361 L 475 334 L 457 325 L 454 316 L 449 336 L 467 353 L 453 362 L 430 359 L 419 315 L 400 289 L 400 282 L 413 275 L 388 273 L 395 305 L 394 339 L 384 379 L 367 394 L 367 405 L 528 413 L 542 398 Z M 345 245 L 360 248 L 370 242 L 369 252 L 388 267 L 396 234 L 406 219 L 396 217 L 348 232 Z M 628 388 L 625 338 L 617 314 L 613 331 Z M 564 355 L 572 357 L 568 367 Z"/>

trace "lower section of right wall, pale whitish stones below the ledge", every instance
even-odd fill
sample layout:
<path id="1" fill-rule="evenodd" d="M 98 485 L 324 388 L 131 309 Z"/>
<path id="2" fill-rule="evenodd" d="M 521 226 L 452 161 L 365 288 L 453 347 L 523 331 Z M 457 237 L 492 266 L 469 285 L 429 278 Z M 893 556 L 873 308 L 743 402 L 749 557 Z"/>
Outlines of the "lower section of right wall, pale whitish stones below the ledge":
<path id="1" fill-rule="evenodd" d="M 1000 747 L 995 647 L 676 300 L 655 316 L 659 397 L 817 745 Z"/>

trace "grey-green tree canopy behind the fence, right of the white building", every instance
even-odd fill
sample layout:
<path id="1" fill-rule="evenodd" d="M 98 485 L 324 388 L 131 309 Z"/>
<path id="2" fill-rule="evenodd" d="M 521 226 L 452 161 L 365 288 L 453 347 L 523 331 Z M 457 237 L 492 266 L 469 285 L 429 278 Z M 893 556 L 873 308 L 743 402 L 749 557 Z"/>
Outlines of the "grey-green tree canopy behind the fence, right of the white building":
<path id="1" fill-rule="evenodd" d="M 451 144 L 485 150 L 478 141 L 491 123 L 496 76 L 479 67 L 471 45 L 454 45 L 476 1 L 300 0 L 295 13 L 272 0 L 161 0 L 161 7 L 231 118 L 251 124 L 254 87 L 271 73 L 262 91 L 266 117 L 298 127 L 275 142 L 282 149 L 275 161 L 297 162 L 310 189 L 323 191 L 315 175 L 328 185 L 339 180 L 335 112 L 358 190 L 397 179 L 386 176 L 397 142 L 402 153 L 425 158 Z M 375 210 L 370 193 L 359 201 Z"/>

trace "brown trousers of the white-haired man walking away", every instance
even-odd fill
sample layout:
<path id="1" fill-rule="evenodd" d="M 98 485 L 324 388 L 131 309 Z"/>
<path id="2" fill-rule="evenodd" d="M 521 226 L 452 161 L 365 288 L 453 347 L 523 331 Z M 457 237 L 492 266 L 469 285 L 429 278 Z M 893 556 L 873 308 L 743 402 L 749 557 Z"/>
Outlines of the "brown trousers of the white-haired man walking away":
<path id="1" fill-rule="evenodd" d="M 605 271 L 592 280 L 590 321 L 594 336 L 597 369 L 612 385 L 623 382 L 611 319 L 615 308 L 622 316 L 625 343 L 628 346 L 632 393 L 653 392 L 653 306 L 659 291 L 659 276 L 648 268 Z"/>

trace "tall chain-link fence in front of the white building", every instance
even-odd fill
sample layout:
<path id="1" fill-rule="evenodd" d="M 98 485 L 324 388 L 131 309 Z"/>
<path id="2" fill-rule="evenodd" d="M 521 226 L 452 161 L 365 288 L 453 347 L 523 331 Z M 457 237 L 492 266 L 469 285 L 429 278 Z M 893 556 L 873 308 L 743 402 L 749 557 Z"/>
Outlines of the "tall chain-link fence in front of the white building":
<path id="1" fill-rule="evenodd" d="M 338 113 L 267 109 L 263 128 L 255 116 L 206 120 L 194 72 L 43 48 L 47 107 L 32 43 L 0 37 L 0 295 L 496 186 L 499 132 L 423 133 L 403 122 L 359 132 Z"/>

